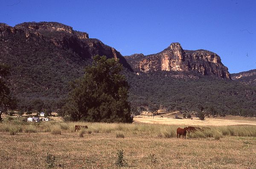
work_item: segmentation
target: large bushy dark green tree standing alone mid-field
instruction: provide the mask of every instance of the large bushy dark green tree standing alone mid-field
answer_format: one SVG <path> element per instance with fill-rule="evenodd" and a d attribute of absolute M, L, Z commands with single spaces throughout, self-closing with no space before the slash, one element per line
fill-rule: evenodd
<path fill-rule="evenodd" d="M 118 59 L 94 56 L 84 76 L 71 82 L 72 90 L 62 115 L 72 121 L 131 123 L 129 86 L 121 70 Z"/>

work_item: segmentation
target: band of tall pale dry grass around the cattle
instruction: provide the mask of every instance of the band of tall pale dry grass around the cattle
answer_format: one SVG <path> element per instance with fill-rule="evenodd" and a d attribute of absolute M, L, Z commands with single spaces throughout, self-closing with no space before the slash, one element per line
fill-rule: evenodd
<path fill-rule="evenodd" d="M 52 134 L 61 134 L 61 132 L 74 132 L 75 125 L 87 125 L 92 133 L 117 133 L 124 135 L 148 135 L 155 138 L 173 138 L 176 137 L 178 127 L 181 125 L 165 124 L 122 124 L 122 123 L 91 123 L 91 122 L 40 122 L 40 123 L 0 123 L 0 132 L 50 132 Z M 200 127 L 200 126 L 196 126 Z M 187 138 L 215 138 L 220 139 L 223 136 L 249 136 L 256 137 L 256 126 L 209 126 L 211 130 L 196 131 L 187 134 Z M 88 133 L 88 132 L 87 132 Z"/>

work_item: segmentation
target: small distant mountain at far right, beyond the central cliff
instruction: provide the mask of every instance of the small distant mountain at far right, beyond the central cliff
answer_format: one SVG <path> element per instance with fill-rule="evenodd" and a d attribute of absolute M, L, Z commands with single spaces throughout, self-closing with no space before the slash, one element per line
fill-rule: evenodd
<path fill-rule="evenodd" d="M 231 79 L 243 84 L 256 85 L 256 69 L 240 73 L 232 73 Z"/>

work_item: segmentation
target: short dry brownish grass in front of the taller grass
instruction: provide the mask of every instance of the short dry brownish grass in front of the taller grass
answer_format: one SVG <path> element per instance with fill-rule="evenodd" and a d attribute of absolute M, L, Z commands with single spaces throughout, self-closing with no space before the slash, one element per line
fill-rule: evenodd
<path fill-rule="evenodd" d="M 129 169 L 256 169 L 256 138 L 157 138 L 114 133 L 0 132 L 1 169 L 46 168 L 47 153 L 54 168 L 117 169 L 117 150 L 123 150 Z"/>

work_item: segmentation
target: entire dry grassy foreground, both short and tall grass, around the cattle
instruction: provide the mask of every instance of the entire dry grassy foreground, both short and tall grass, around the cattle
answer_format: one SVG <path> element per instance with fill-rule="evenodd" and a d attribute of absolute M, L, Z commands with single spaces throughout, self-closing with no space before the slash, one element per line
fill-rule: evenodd
<path fill-rule="evenodd" d="M 74 125 L 89 129 L 74 132 Z M 103 123 L 2 123 L 0 168 L 119 168 L 117 150 L 126 166 L 140 169 L 256 169 L 256 127 L 211 127 L 175 138 L 177 125 Z"/>

